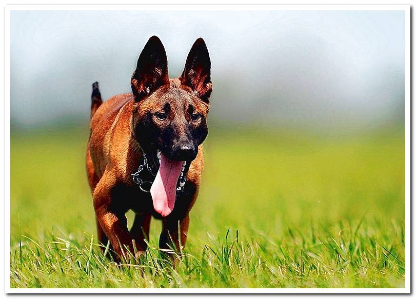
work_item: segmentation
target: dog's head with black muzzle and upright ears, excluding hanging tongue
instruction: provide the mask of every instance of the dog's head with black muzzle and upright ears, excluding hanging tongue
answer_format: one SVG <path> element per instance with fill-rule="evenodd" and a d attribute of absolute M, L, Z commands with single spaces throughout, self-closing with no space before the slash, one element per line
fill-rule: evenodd
<path fill-rule="evenodd" d="M 166 164 L 166 169 L 183 176 L 208 134 L 212 83 L 211 61 L 204 40 L 196 39 L 182 75 L 169 79 L 165 48 L 158 37 L 150 37 L 138 57 L 131 89 L 135 101 L 133 137 L 152 166 L 161 166 L 158 175 L 163 175 L 161 170 Z M 169 177 L 176 175 L 173 172 L 169 170 Z"/>

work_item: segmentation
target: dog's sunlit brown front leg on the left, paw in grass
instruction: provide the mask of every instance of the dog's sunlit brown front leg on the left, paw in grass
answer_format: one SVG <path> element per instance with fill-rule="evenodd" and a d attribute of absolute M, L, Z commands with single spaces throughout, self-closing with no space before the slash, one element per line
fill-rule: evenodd
<path fill-rule="evenodd" d="M 104 180 L 103 180 L 104 179 Z M 133 253 L 133 243 L 131 235 L 127 229 L 127 218 L 122 211 L 114 209 L 111 189 L 114 184 L 103 175 L 100 182 L 94 190 L 94 210 L 97 222 L 104 230 L 110 240 L 117 260 L 125 260 L 128 258 L 127 249 Z"/>

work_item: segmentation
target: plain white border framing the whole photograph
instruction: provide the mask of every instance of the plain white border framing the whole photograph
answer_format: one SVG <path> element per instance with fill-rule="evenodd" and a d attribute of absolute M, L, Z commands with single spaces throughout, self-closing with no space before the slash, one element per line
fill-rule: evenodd
<path fill-rule="evenodd" d="M 405 12 L 405 288 L 10 288 L 10 12 L 17 10 L 400 10 Z M 5 7 L 5 278 L 6 293 L 410 293 L 410 5 L 9 5 Z"/>

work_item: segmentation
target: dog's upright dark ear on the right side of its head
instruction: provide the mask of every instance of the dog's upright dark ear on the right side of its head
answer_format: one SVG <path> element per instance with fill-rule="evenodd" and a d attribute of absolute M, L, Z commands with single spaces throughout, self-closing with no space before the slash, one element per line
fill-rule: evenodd
<path fill-rule="evenodd" d="M 192 88 L 198 97 L 209 103 L 208 99 L 212 91 L 211 60 L 204 39 L 201 37 L 196 39 L 189 51 L 180 80 L 181 84 Z"/>

